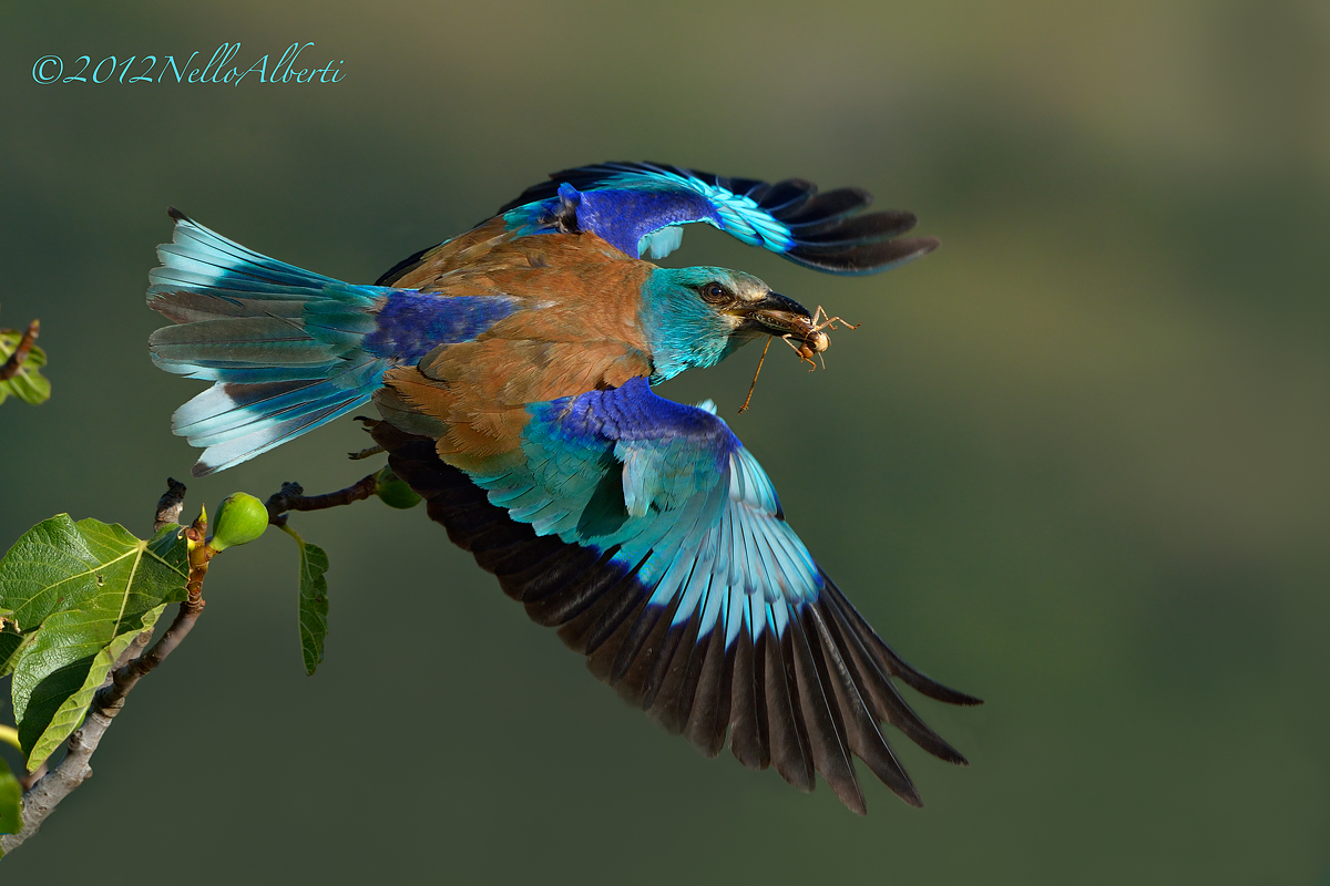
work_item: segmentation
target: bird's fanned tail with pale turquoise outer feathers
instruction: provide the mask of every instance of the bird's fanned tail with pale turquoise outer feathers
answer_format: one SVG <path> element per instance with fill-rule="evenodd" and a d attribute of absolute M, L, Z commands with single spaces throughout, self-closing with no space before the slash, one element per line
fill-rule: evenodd
<path fill-rule="evenodd" d="M 215 384 L 172 417 L 205 449 L 194 476 L 223 470 L 366 402 L 394 360 L 362 340 L 390 290 L 302 271 L 182 213 L 157 248 L 148 304 L 178 325 L 149 339 L 168 372 Z"/>

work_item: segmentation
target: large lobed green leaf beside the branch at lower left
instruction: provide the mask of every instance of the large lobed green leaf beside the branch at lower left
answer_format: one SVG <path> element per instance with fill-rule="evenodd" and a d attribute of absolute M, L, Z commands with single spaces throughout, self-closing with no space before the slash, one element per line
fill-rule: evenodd
<path fill-rule="evenodd" d="M 13 610 L 24 634 L 13 709 L 29 769 L 78 727 L 134 636 L 185 599 L 188 546 L 178 530 L 168 526 L 145 542 L 118 525 L 60 514 L 0 561 L 0 606 Z"/>

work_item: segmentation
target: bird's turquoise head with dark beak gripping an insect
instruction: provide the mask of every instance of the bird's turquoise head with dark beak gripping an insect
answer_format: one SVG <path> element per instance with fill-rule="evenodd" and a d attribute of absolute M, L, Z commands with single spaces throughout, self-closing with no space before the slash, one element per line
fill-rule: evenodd
<path fill-rule="evenodd" d="M 793 333 L 813 351 L 826 349 L 826 333 L 813 328 L 802 304 L 728 268 L 656 268 L 638 316 L 652 348 L 652 381 L 713 367 L 762 333 Z"/>

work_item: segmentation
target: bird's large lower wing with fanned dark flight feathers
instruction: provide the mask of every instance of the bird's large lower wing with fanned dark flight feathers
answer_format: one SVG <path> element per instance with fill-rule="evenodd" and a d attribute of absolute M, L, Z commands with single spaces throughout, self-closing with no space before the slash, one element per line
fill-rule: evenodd
<path fill-rule="evenodd" d="M 559 627 L 597 677 L 706 756 L 729 733 L 741 762 L 775 765 L 797 788 L 811 790 L 821 772 L 861 814 L 853 756 L 920 804 L 882 723 L 964 762 L 892 679 L 952 704 L 979 700 L 882 642 L 724 421 L 641 377 L 528 414 L 520 449 L 466 473 L 439 460 L 434 440 L 388 422 L 375 438 L 452 541 L 532 619 Z"/>

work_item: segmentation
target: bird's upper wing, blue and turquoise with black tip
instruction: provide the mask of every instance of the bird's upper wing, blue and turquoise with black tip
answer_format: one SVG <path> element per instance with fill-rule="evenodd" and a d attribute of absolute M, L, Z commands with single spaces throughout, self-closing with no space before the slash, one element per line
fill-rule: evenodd
<path fill-rule="evenodd" d="M 681 224 L 705 222 L 749 246 L 831 274 L 875 274 L 938 247 L 931 236 L 900 238 L 911 213 L 863 213 L 872 195 L 858 187 L 819 193 L 790 178 L 770 185 L 666 163 L 600 163 L 565 169 L 499 211 L 531 232 L 595 231 L 632 256 L 664 258 Z"/>

